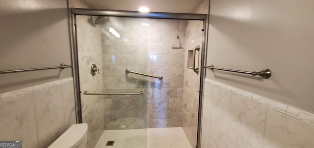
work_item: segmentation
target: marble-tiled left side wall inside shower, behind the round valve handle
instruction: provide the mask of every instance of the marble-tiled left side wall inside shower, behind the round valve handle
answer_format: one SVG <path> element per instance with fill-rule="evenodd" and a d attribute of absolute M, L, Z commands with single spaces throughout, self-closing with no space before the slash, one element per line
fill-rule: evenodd
<path fill-rule="evenodd" d="M 93 63 L 102 70 L 101 26 L 95 25 L 97 17 L 78 16 L 78 70 L 80 91 L 102 92 L 103 73 L 91 75 Z M 87 148 L 94 148 L 105 128 L 105 103 L 102 95 L 81 93 L 82 122 L 88 124 Z"/>

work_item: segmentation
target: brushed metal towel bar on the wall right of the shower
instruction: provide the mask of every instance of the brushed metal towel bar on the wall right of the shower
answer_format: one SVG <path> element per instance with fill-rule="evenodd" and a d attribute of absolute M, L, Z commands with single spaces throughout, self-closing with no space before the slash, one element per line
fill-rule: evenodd
<path fill-rule="evenodd" d="M 271 71 L 269 69 L 263 69 L 262 71 L 260 72 L 250 72 L 250 71 L 241 71 L 241 70 L 233 70 L 233 69 L 225 69 L 225 68 L 217 68 L 217 67 L 214 67 L 214 65 L 210 65 L 210 66 L 205 66 L 205 68 L 209 68 L 211 70 L 223 70 L 223 71 L 229 71 L 229 72 L 236 72 L 236 73 L 243 73 L 243 74 L 249 74 L 249 75 L 252 75 L 252 76 L 261 76 L 262 78 L 264 79 L 268 79 L 270 78 L 271 76 Z"/>

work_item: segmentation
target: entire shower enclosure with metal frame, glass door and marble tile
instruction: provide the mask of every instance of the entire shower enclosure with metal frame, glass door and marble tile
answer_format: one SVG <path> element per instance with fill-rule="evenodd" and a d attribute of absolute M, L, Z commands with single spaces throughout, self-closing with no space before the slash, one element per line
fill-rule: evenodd
<path fill-rule="evenodd" d="M 78 114 L 79 122 L 89 127 L 87 148 L 194 148 L 200 138 L 203 81 L 203 68 L 196 73 L 195 66 L 204 66 L 207 16 L 91 9 L 72 13 Z M 194 50 L 197 45 L 202 50 Z M 194 70 L 188 68 L 190 61 Z"/>

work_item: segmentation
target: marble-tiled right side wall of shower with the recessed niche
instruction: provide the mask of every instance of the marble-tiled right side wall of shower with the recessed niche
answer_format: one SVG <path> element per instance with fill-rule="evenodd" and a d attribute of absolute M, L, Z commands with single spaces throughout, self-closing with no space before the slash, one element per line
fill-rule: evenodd
<path fill-rule="evenodd" d="M 194 13 L 207 14 L 209 10 L 209 0 L 205 0 Z M 200 74 L 196 74 L 192 69 L 187 68 L 187 52 L 197 45 L 202 45 L 203 21 L 188 21 L 186 26 L 186 42 L 184 56 L 184 88 L 183 88 L 183 129 L 194 148 L 196 146 L 197 123 L 198 123 L 198 103 Z M 201 52 L 200 52 L 201 55 Z M 199 58 L 199 66 L 200 66 Z"/>

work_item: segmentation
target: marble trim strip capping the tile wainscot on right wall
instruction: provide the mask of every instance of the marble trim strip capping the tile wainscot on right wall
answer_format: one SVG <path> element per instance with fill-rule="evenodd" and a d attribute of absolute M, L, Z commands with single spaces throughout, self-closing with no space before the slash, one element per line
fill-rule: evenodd
<path fill-rule="evenodd" d="M 240 97 L 243 97 L 245 99 L 248 99 L 252 102 L 258 103 L 262 106 L 266 106 L 267 108 L 273 109 L 275 111 L 278 111 L 280 113 L 284 113 L 285 115 L 288 115 L 290 117 L 293 117 L 297 120 L 299 120 L 300 122 L 309 124 L 314 126 L 314 114 L 292 107 L 292 106 L 288 106 L 276 101 L 273 101 L 271 99 L 262 97 L 260 95 L 257 94 L 253 94 L 229 85 L 225 85 L 213 80 L 210 80 L 208 78 L 205 78 L 205 83 L 209 84 L 209 85 L 213 85 L 216 86 L 218 88 L 224 89 L 229 91 L 229 89 L 231 90 L 230 92 L 232 92 L 235 95 L 238 95 Z"/>

